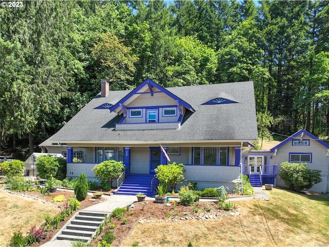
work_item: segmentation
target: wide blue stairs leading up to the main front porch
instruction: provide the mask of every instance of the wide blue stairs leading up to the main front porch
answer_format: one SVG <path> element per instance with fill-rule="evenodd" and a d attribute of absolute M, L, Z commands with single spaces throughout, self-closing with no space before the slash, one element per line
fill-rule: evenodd
<path fill-rule="evenodd" d="M 155 195 L 151 188 L 153 178 L 154 174 L 130 174 L 120 188 L 113 193 L 116 195 L 130 196 L 135 196 L 137 193 L 144 193 L 148 197 L 152 197 Z"/>

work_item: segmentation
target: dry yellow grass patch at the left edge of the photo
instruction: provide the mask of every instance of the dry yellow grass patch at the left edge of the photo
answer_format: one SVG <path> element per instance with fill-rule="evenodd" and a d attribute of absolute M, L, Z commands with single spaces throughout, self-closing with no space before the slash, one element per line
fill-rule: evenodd
<path fill-rule="evenodd" d="M 45 216 L 57 215 L 61 209 L 31 198 L 10 195 L 0 189 L 0 246 L 5 246 L 14 231 L 29 232 L 34 224 L 39 227 Z"/>

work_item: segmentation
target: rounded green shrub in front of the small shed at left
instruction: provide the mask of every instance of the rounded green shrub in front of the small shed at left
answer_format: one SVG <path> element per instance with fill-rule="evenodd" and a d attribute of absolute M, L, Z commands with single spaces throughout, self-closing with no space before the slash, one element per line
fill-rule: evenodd
<path fill-rule="evenodd" d="M 51 155 L 41 155 L 36 159 L 36 169 L 43 179 L 49 177 L 56 178 L 60 164 L 56 157 Z"/>

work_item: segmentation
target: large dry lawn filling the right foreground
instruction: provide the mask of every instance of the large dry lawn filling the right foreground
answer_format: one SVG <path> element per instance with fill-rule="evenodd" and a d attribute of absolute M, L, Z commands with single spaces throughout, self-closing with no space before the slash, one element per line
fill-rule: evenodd
<path fill-rule="evenodd" d="M 329 196 L 275 188 L 240 216 L 135 224 L 121 246 L 328 246 Z"/>

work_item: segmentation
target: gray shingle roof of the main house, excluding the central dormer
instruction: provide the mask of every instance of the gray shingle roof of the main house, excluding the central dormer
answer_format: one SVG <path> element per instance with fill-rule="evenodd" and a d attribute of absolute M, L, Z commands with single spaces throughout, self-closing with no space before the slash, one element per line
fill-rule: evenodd
<path fill-rule="evenodd" d="M 233 82 L 210 85 L 168 87 L 168 91 L 188 102 L 195 112 L 187 111 L 180 129 L 116 131 L 121 116 L 109 110 L 94 109 L 103 103 L 115 104 L 131 91 L 110 91 L 97 95 L 56 134 L 40 146 L 51 143 L 177 143 L 202 141 L 252 141 L 258 137 L 253 83 Z M 202 105 L 225 98 L 238 103 Z M 92 145 L 91 145 L 92 146 Z"/>

